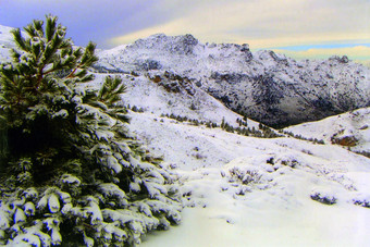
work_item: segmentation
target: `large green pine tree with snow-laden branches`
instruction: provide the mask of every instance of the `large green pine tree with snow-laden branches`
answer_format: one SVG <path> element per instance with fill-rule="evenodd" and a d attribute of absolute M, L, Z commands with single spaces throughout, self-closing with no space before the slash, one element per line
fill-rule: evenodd
<path fill-rule="evenodd" d="M 128 135 L 122 79 L 86 85 L 95 45 L 74 48 L 51 15 L 24 30 L 0 65 L 0 244 L 135 245 L 177 223 L 171 175 Z"/>

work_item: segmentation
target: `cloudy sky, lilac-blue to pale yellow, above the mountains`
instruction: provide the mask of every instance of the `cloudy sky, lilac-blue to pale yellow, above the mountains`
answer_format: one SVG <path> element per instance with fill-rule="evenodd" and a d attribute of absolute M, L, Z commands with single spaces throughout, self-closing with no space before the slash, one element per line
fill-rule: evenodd
<path fill-rule="evenodd" d="M 0 0 L 0 25 L 23 27 L 47 13 L 81 46 L 193 34 L 296 58 L 370 60 L 369 0 Z"/>

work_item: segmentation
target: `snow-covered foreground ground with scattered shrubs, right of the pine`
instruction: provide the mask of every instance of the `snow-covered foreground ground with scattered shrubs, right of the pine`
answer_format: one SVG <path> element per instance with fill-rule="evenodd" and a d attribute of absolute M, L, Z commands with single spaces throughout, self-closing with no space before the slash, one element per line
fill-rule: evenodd
<path fill-rule="evenodd" d="M 368 158 L 338 146 L 244 137 L 151 113 L 132 113 L 131 128 L 163 156 L 188 195 L 182 224 L 149 234 L 141 246 L 370 244 L 370 209 L 354 205 L 370 202 Z"/>

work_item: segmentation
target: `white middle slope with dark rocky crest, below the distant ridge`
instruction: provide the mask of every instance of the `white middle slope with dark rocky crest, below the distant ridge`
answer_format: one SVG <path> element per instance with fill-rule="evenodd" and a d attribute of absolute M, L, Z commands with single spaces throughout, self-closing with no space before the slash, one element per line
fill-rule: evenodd
<path fill-rule="evenodd" d="M 112 74 L 114 75 L 114 74 Z M 95 84 L 101 84 L 107 74 L 96 74 Z M 182 78 L 172 77 L 161 73 L 140 76 L 122 75 L 127 86 L 127 91 L 122 96 L 125 104 L 136 107 L 145 112 L 151 112 L 157 118 L 160 115 L 175 115 L 221 124 L 224 119 L 231 125 L 237 126 L 236 120 L 243 119 L 231 111 L 219 100 L 214 99 L 202 89 L 188 84 L 184 85 Z M 153 78 L 161 78 L 156 83 Z M 248 120 L 248 126 L 258 128 L 259 123 Z"/>

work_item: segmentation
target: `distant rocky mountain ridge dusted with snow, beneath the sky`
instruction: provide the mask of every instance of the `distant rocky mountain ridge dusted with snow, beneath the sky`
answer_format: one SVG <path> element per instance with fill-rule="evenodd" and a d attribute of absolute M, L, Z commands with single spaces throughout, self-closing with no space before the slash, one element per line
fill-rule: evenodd
<path fill-rule="evenodd" d="M 295 61 L 248 45 L 200 44 L 192 35 L 153 35 L 99 53 L 100 71 L 172 71 L 226 107 L 286 126 L 370 106 L 370 69 L 347 57 Z"/>

